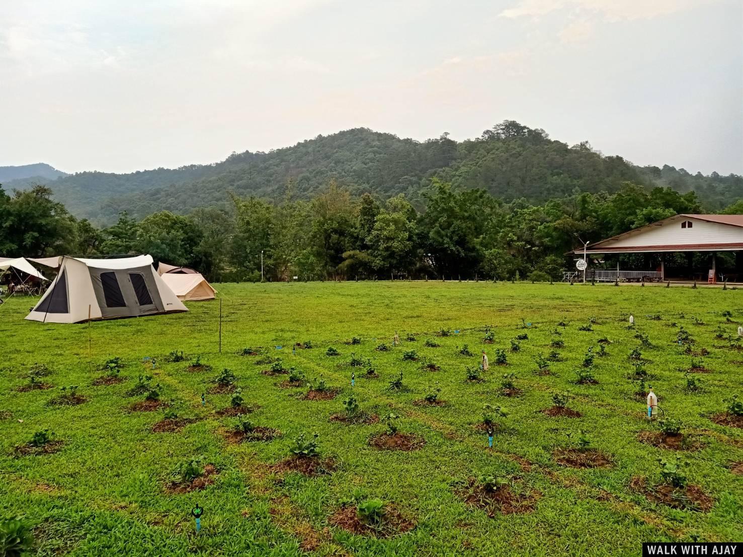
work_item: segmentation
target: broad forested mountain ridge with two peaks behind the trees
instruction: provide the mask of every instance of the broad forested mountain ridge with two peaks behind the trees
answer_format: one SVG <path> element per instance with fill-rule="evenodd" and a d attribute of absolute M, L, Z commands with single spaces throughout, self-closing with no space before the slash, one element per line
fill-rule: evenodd
<path fill-rule="evenodd" d="M 80 172 L 36 180 L 77 216 L 109 224 L 120 211 L 135 218 L 166 209 L 187 213 L 199 206 L 229 206 L 230 192 L 279 199 L 288 188 L 296 198 L 317 195 L 331 179 L 353 195 L 379 198 L 406 194 L 416 209 L 421 192 L 438 177 L 456 189 L 486 189 L 509 202 L 542 203 L 575 192 L 617 192 L 623 183 L 692 189 L 704 209 L 716 211 L 743 197 L 743 177 L 691 175 L 672 166 L 633 166 L 603 156 L 587 143 L 568 146 L 545 131 L 507 120 L 475 140 L 455 142 L 442 134 L 418 142 L 355 128 L 317 136 L 270 152 L 233 153 L 221 163 L 155 169 L 131 174 Z M 31 180 L 4 183 L 25 189 Z"/>

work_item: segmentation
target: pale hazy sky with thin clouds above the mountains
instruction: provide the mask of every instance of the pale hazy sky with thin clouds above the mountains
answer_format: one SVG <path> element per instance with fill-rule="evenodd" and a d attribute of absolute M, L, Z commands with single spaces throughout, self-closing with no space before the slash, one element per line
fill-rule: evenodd
<path fill-rule="evenodd" d="M 0 166 L 129 172 L 513 119 L 743 173 L 741 0 L 5 0 L 0 23 Z"/>

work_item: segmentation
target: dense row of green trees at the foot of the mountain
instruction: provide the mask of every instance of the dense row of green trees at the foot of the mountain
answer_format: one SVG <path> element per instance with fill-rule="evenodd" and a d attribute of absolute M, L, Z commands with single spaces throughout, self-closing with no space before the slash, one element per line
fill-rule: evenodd
<path fill-rule="evenodd" d="M 132 218 L 110 227 L 75 218 L 36 185 L 0 188 L 0 255 L 128 255 L 194 267 L 212 281 L 548 278 L 572 268 L 579 237 L 598 241 L 678 213 L 702 212 L 694 191 L 625 182 L 617 192 L 576 192 L 544 203 L 505 202 L 485 189 L 433 177 L 423 209 L 405 194 L 353 195 L 330 180 L 297 195 L 288 180 L 278 200 L 230 195 L 226 207 Z M 743 200 L 725 212 L 743 212 Z M 632 258 L 623 255 L 623 258 Z M 671 255 L 669 255 L 671 257 Z M 629 261 L 628 261 L 629 262 Z"/>

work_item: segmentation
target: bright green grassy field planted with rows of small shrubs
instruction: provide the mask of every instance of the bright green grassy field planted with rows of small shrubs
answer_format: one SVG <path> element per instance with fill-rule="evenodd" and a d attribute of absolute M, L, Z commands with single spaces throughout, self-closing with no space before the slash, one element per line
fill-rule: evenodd
<path fill-rule="evenodd" d="M 217 287 L 221 354 L 218 302 L 89 328 L 24 321 L 30 299 L 0 306 L 0 516 L 22 515 L 40 555 L 594 556 L 638 555 L 642 541 L 743 540 L 743 431 L 724 414 L 724 400 L 743 394 L 743 351 L 716 338 L 718 327 L 737 335 L 740 290 L 432 281 Z M 492 344 L 484 343 L 486 326 Z M 442 329 L 450 336 L 439 336 Z M 693 344 L 678 344 L 682 329 Z M 395 330 L 401 345 L 392 348 Z M 512 351 L 519 335 L 528 339 Z M 354 336 L 359 345 L 344 343 Z M 600 339 L 610 342 L 606 355 L 585 367 Z M 313 348 L 292 353 L 293 343 L 306 341 Z M 376 349 L 383 343 L 389 351 Z M 465 344 L 473 356 L 459 354 Z M 246 347 L 262 350 L 239 355 Z M 340 355 L 326 356 L 329 347 Z M 635 348 L 663 417 L 681 423 L 678 450 L 652 445 L 661 440 L 659 422 L 644 417 L 639 384 L 628 379 Z M 467 380 L 483 349 L 490 370 L 484 381 Z M 496 365 L 496 349 L 507 365 Z M 167 362 L 172 351 L 186 360 Z M 409 351 L 418 361 L 403 359 L 414 357 Z M 539 374 L 539 356 L 552 351 L 561 361 L 541 362 L 550 373 Z M 363 365 L 351 367 L 352 354 Z M 122 381 L 94 385 L 114 356 Z M 187 371 L 196 356 L 211 370 Z M 282 388 L 287 374 L 262 374 L 270 363 L 256 365 L 267 356 L 307 382 Z M 363 377 L 366 359 L 379 377 Z M 49 371 L 36 382 L 51 388 L 25 391 L 34 364 Z M 687 388 L 692 366 L 701 391 Z M 232 394 L 209 394 L 224 368 L 235 374 L 254 425 L 280 431 L 273 440 L 236 442 L 238 419 L 218 415 Z M 579 370 L 597 383 L 577 384 Z M 403 388 L 390 388 L 400 372 Z M 140 374 L 159 383 L 160 403 L 182 429 L 152 431 L 163 408 L 131 410 L 145 400 L 128 396 Z M 505 396 L 504 374 L 515 376 L 516 396 Z M 337 396 L 304 400 L 321 378 Z M 50 404 L 71 385 L 85 402 Z M 446 403 L 421 403 L 435 388 Z M 565 393 L 581 417 L 542 412 Z M 331 420 L 351 395 L 372 416 L 366 421 L 380 420 Z M 487 404 L 507 414 L 496 416 L 493 449 L 481 426 Z M 370 445 L 385 440 L 379 435 L 391 413 L 417 450 Z M 44 429 L 53 432 L 50 443 L 26 445 Z M 305 466 L 317 473 L 293 471 L 296 437 L 314 433 L 319 457 L 296 460 L 317 464 Z M 666 446 L 680 438 L 665 437 Z M 661 477 L 658 458 L 677 455 L 690 487 L 658 488 L 671 477 Z M 201 459 L 195 472 L 207 475 L 189 483 L 182 464 L 193 458 Z M 496 486 L 486 489 L 483 476 Z M 373 516 L 357 518 L 357 504 L 377 498 L 386 515 L 369 527 Z M 196 505 L 204 508 L 198 535 Z"/>

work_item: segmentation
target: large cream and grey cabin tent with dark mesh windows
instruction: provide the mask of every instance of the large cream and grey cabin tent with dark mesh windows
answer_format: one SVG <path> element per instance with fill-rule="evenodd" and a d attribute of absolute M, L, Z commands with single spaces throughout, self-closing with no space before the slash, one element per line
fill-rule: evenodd
<path fill-rule="evenodd" d="M 163 282 L 152 256 L 59 258 L 59 273 L 26 316 L 32 321 L 80 323 L 188 311 Z"/>

